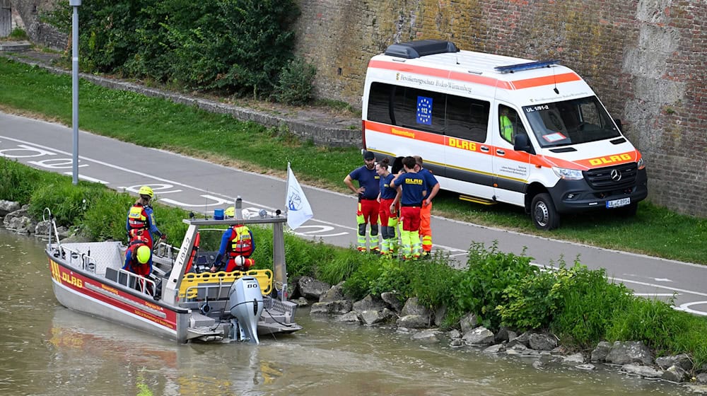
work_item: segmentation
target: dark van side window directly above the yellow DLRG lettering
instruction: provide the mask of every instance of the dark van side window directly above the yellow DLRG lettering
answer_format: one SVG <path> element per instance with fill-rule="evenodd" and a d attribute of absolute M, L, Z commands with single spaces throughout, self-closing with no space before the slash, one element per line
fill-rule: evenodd
<path fill-rule="evenodd" d="M 491 104 L 484 100 L 447 95 L 445 134 L 471 141 L 486 141 Z"/>

